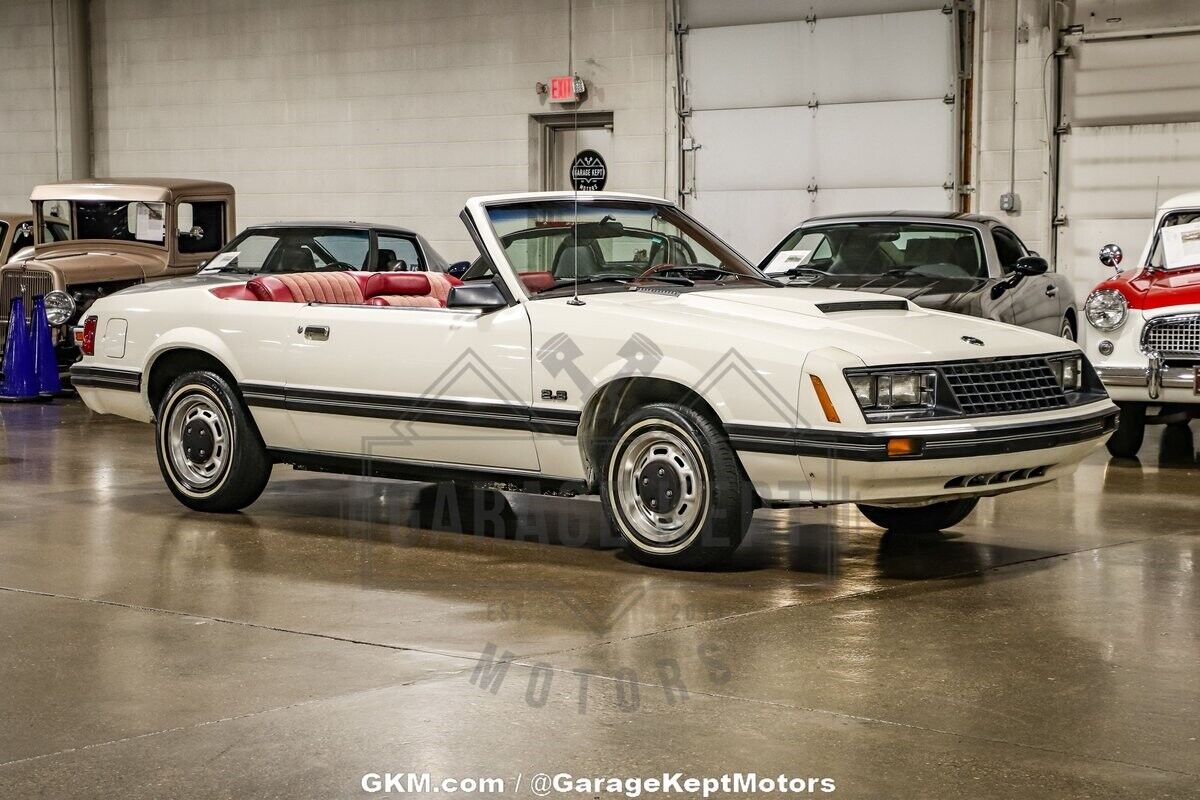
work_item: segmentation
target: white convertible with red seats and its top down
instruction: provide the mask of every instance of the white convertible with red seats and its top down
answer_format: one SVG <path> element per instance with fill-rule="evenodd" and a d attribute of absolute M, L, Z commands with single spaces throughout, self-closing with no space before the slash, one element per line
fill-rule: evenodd
<path fill-rule="evenodd" d="M 470 200 L 462 279 L 217 267 L 97 301 L 72 369 L 157 426 L 167 486 L 276 463 L 599 493 L 642 561 L 727 558 L 756 506 L 937 530 L 1072 473 L 1116 408 L 1079 348 L 898 297 L 781 288 L 666 200 Z"/>

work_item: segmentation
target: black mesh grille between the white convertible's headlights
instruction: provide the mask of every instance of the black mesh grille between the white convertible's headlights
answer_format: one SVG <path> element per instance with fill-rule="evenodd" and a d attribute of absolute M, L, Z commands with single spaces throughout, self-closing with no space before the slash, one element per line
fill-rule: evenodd
<path fill-rule="evenodd" d="M 947 363 L 942 375 L 964 414 L 1009 414 L 1067 405 L 1045 357 Z"/>

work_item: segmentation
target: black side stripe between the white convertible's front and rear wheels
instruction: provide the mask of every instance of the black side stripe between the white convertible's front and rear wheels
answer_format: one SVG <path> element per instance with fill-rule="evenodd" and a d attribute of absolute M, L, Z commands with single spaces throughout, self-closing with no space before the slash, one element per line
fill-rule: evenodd
<path fill-rule="evenodd" d="M 259 408 L 361 416 L 377 420 L 466 425 L 505 431 L 533 431 L 574 437 L 580 413 L 542 409 L 517 403 L 475 403 L 436 397 L 392 397 L 314 389 L 284 389 L 265 384 L 241 384 L 246 403 Z"/>

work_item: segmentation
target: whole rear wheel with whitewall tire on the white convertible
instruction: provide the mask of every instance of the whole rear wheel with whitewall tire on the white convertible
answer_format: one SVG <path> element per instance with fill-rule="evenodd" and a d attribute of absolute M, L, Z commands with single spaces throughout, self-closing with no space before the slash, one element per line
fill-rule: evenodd
<path fill-rule="evenodd" d="M 167 488 L 196 511 L 240 511 L 271 476 L 258 428 L 215 372 L 188 372 L 170 384 L 158 404 L 155 451 Z"/>

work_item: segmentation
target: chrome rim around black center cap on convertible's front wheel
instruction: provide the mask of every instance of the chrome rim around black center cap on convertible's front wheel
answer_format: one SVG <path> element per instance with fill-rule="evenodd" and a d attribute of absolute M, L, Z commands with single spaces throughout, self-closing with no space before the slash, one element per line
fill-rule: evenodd
<path fill-rule="evenodd" d="M 676 504 L 653 509 L 640 493 L 647 468 L 667 470 L 678 486 Z M 665 476 L 666 477 L 666 476 Z M 708 519 L 708 467 L 690 433 L 665 420 L 626 431 L 608 464 L 608 501 L 625 534 L 647 553 L 677 553 L 695 541 Z"/>

